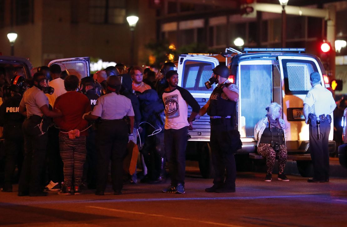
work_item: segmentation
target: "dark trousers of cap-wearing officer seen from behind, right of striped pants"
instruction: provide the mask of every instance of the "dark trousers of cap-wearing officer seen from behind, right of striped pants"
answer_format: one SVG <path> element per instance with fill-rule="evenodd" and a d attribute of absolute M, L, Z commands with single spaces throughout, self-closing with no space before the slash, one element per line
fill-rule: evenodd
<path fill-rule="evenodd" d="M 113 190 L 123 187 L 123 161 L 127 155 L 128 125 L 124 120 L 102 120 L 96 132 L 97 191 L 105 191 L 111 159 Z"/>

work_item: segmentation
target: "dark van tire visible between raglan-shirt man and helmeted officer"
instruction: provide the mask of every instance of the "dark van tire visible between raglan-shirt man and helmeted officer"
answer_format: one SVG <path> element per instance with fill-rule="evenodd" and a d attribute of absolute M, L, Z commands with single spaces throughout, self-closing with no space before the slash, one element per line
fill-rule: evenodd
<path fill-rule="evenodd" d="M 199 155 L 199 169 L 203 178 L 213 178 L 214 169 L 212 166 L 210 143 L 203 143 Z"/>

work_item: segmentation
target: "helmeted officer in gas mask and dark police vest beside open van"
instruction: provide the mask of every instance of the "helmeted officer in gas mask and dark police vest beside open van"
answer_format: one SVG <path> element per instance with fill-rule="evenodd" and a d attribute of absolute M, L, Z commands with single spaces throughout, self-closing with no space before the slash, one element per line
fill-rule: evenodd
<path fill-rule="evenodd" d="M 209 101 L 201 108 L 199 115 L 206 112 L 211 120 L 211 158 L 215 171 L 213 186 L 206 192 L 235 192 L 236 164 L 234 153 L 241 148 L 240 133 L 235 128 L 235 109 L 238 88 L 228 82 L 229 68 L 218 65 L 213 69 L 209 85 L 218 86 L 212 91 Z M 208 87 L 206 85 L 206 87 Z M 211 86 L 209 86 L 211 87 Z M 224 178 L 225 170 L 227 172 Z"/>

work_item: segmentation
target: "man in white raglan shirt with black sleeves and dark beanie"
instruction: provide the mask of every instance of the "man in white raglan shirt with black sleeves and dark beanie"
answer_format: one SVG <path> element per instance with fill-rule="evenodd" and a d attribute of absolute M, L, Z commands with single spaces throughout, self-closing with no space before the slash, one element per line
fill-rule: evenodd
<path fill-rule="evenodd" d="M 183 194 L 184 176 L 186 170 L 186 147 L 188 129 L 193 130 L 193 120 L 200 110 L 200 106 L 191 93 L 178 84 L 178 73 L 170 70 L 165 75 L 169 87 L 164 90 L 162 99 L 165 105 L 165 153 L 169 166 L 171 185 L 165 188 L 165 193 Z M 188 118 L 188 105 L 192 107 Z"/>

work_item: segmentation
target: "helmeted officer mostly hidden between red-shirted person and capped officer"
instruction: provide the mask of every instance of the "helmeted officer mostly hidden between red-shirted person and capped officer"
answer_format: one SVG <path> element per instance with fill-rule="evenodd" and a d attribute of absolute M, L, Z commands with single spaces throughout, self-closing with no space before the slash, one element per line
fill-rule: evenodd
<path fill-rule="evenodd" d="M 96 92 L 96 82 L 93 77 L 84 77 L 81 79 L 79 86 L 81 91 L 90 101 L 92 110 L 96 105 L 99 95 Z M 87 156 L 83 166 L 82 186 L 88 189 L 96 188 L 96 144 L 95 144 L 96 130 L 95 127 L 88 128 L 88 135 L 86 137 Z"/>

